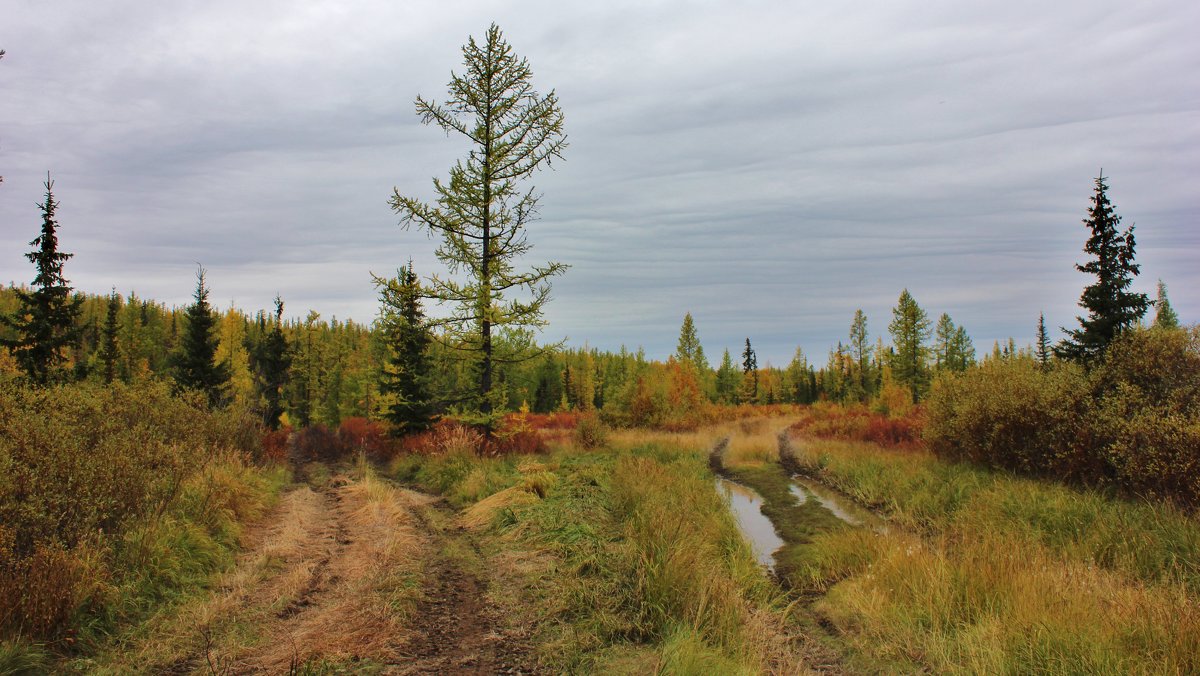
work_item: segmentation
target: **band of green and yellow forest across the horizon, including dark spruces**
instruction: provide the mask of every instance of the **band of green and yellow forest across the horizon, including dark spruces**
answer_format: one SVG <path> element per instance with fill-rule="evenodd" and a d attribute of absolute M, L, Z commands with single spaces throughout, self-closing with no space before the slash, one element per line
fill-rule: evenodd
<path fill-rule="evenodd" d="M 422 303 L 431 294 L 412 263 L 394 279 L 376 277 L 380 310 L 370 325 L 326 321 L 316 312 L 289 319 L 278 298 L 270 313 L 214 309 L 203 268 L 193 303 L 184 309 L 132 292 L 78 294 L 64 274 L 71 255 L 58 249 L 53 187 L 47 179 L 41 231 L 26 253 L 35 268 L 32 285 L 0 289 L 0 345 L 6 348 L 0 372 L 22 373 L 36 384 L 170 379 L 180 389 L 203 391 L 214 407 L 236 403 L 257 411 L 270 427 L 332 426 L 362 417 L 389 420 L 397 433 L 407 433 L 440 415 L 478 415 L 478 337 L 426 315 Z M 946 313 L 931 322 L 907 289 L 892 311 L 888 343 L 882 336 L 872 340 L 868 317 L 858 310 L 846 341 L 829 351 L 823 365 L 800 348 L 787 365 L 760 365 L 746 337 L 740 359 L 725 349 L 714 367 L 690 313 L 665 363 L 640 348 L 539 348 L 522 327 L 497 324 L 490 337 L 492 411 L 605 411 L 631 421 L 695 415 L 710 403 L 827 400 L 886 411 L 923 400 L 940 376 L 977 361 L 1032 359 L 1043 370 L 1057 361 L 1087 366 L 1150 306 L 1157 307 L 1156 325 L 1178 327 L 1165 285 L 1159 282 L 1154 301 L 1128 291 L 1138 274 L 1133 231 L 1117 231 L 1120 217 L 1105 190 L 1103 178 L 1097 179 L 1085 220 L 1092 232 L 1085 251 L 1094 259 L 1079 269 L 1097 276 L 1080 300 L 1087 316 L 1058 345 L 1050 345 L 1040 316 L 1036 345 L 1019 349 L 1009 339 L 977 355 L 962 327 Z M 494 359 L 497 354 L 527 357 Z"/>

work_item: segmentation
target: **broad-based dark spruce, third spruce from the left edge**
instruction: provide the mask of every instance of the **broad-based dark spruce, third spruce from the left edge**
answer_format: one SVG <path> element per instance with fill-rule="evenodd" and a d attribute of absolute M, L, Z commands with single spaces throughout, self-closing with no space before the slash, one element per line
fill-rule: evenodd
<path fill-rule="evenodd" d="M 200 391 L 208 399 L 209 406 L 220 406 L 226 400 L 229 365 L 216 361 L 217 316 L 209 305 L 204 268 L 196 271 L 193 299 L 184 313 L 184 333 L 172 359 L 172 372 L 180 389 Z"/>

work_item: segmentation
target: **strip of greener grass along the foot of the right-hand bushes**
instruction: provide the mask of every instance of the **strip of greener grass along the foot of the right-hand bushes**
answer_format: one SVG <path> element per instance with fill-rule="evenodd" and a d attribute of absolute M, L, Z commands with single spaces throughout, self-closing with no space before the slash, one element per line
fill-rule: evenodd
<path fill-rule="evenodd" d="M 1200 593 L 1200 525 L 1168 503 L 1115 499 L 924 451 L 821 441 L 797 445 L 812 474 L 908 528 L 1006 533 L 1066 562 Z"/>

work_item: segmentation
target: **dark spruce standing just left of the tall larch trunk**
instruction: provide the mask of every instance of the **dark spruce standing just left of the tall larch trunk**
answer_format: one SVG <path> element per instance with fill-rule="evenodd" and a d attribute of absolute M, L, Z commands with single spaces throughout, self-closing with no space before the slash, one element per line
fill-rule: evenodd
<path fill-rule="evenodd" d="M 421 285 L 409 262 L 392 280 L 376 277 L 376 286 L 388 343 L 379 390 L 392 399 L 384 418 L 397 436 L 421 432 L 433 424 L 436 411 L 430 382 L 432 337 L 421 309 Z"/>

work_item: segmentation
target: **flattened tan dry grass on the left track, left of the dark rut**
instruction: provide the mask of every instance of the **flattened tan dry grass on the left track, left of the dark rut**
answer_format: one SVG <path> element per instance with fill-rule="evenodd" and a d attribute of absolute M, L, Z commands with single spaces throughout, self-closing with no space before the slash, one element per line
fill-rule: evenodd
<path fill-rule="evenodd" d="M 324 492 L 298 487 L 212 594 L 150 622 L 101 671 L 168 666 L 287 672 L 317 662 L 395 659 L 415 604 L 428 499 L 370 473 Z"/>

